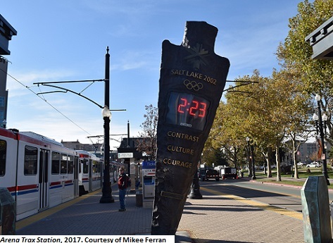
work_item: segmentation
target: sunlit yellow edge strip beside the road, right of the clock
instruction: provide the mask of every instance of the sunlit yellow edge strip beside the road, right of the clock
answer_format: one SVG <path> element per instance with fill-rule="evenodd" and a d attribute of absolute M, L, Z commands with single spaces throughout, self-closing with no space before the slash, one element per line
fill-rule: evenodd
<path fill-rule="evenodd" d="M 251 205 L 251 206 L 256 206 L 256 207 L 262 208 L 264 210 L 273 211 L 275 213 L 279 213 L 279 214 L 282 214 L 282 215 L 285 215 L 285 216 L 289 216 L 291 218 L 296 218 L 296 219 L 299 219 L 299 220 L 303 220 L 303 214 L 299 213 L 299 212 L 296 212 L 296 211 L 289 211 L 289 210 L 284 209 L 284 208 L 278 208 L 278 207 L 272 206 L 270 204 L 263 204 L 263 203 L 260 203 L 259 201 L 246 199 L 244 197 L 237 197 L 235 195 L 225 194 L 225 193 L 222 193 L 222 192 L 215 191 L 213 189 L 208 189 L 206 187 L 200 187 L 200 189 L 202 189 L 203 191 L 209 192 L 211 194 L 221 195 L 221 196 L 226 197 L 228 199 L 241 201 L 244 204 L 248 204 L 248 205 Z"/>

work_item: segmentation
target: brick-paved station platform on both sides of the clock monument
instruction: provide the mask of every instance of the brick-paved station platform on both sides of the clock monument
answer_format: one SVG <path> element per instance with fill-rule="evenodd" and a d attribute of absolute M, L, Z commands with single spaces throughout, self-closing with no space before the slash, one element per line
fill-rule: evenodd
<path fill-rule="evenodd" d="M 126 197 L 127 210 L 100 204 L 101 190 L 16 223 L 16 235 L 150 235 L 151 208 L 137 206 L 136 194 Z M 222 194 L 201 185 L 203 199 L 187 199 L 175 242 L 240 243 L 303 242 L 303 217 L 249 199 Z"/>

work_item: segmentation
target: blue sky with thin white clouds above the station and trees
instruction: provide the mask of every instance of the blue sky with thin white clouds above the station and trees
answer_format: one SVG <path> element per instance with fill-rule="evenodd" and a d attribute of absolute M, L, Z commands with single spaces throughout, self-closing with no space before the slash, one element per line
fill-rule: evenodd
<path fill-rule="evenodd" d="M 161 46 L 182 44 L 187 21 L 218 28 L 215 54 L 230 60 L 227 80 L 270 76 L 301 0 L 11 0 L 0 14 L 18 32 L 9 42 L 7 128 L 58 142 L 101 143 L 101 108 L 37 82 L 100 80 L 110 59 L 111 149 L 139 137 L 145 106 L 158 106 Z M 232 82 L 227 83 L 227 87 Z M 104 104 L 104 82 L 59 85 Z M 39 94 L 42 92 L 53 92 Z M 125 109 L 126 111 L 112 111 Z"/>

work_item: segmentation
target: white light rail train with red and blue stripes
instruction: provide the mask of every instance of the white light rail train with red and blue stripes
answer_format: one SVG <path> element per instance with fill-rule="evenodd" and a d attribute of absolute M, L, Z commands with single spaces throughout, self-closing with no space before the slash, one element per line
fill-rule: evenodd
<path fill-rule="evenodd" d="M 111 162 L 111 180 L 121 165 Z M 0 127 L 0 187 L 15 199 L 16 220 L 101 188 L 102 172 L 103 159 L 94 154 L 34 132 Z"/>

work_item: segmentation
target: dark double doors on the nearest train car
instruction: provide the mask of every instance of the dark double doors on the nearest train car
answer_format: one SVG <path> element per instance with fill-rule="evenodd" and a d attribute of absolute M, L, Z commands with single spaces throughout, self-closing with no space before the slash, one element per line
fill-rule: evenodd
<path fill-rule="evenodd" d="M 49 154 L 50 151 L 39 151 L 39 210 L 49 206 Z"/>

